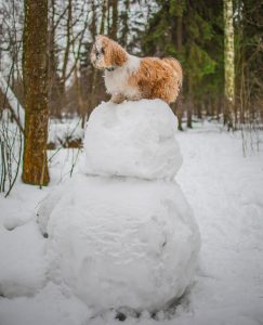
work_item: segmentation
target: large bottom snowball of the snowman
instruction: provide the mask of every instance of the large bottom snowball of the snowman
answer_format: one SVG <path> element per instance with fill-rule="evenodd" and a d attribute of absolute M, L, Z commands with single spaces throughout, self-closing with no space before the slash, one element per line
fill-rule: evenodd
<path fill-rule="evenodd" d="M 64 188 L 48 223 L 53 274 L 88 306 L 158 310 L 184 292 L 199 232 L 176 183 L 79 174 Z"/>

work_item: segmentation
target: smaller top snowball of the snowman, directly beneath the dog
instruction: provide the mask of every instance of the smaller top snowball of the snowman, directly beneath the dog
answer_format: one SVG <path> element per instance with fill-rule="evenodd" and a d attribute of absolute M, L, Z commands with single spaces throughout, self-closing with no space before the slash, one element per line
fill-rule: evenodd
<path fill-rule="evenodd" d="M 174 134 L 177 119 L 161 100 L 102 103 L 84 136 L 84 172 L 172 179 L 182 165 Z"/>

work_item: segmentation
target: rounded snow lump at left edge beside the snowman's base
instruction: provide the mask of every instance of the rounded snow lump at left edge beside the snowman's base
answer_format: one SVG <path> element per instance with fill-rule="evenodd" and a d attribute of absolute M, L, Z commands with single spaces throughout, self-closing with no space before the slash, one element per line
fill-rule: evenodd
<path fill-rule="evenodd" d="M 30 296 L 43 286 L 44 244 L 35 221 L 14 230 L 0 224 L 1 295 L 9 298 Z"/>

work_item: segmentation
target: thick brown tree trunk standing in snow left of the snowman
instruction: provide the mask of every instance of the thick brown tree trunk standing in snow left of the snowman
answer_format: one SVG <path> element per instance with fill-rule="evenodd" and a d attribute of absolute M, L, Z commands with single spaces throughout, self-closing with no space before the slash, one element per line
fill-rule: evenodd
<path fill-rule="evenodd" d="M 25 89 L 25 142 L 22 179 L 49 183 L 48 140 L 48 0 L 25 0 L 23 77 Z"/>

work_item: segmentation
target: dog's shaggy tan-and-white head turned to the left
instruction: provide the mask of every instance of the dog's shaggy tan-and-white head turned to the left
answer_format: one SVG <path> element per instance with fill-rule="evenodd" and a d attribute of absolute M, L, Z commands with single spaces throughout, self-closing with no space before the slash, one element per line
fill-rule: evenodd
<path fill-rule="evenodd" d="M 110 69 L 124 64 L 128 53 L 117 42 L 98 35 L 91 50 L 91 63 L 97 69 Z"/>

